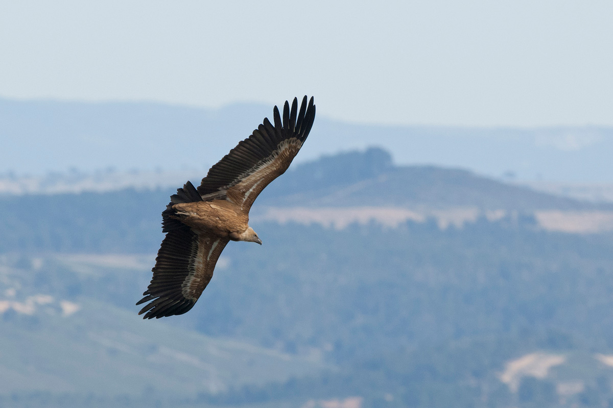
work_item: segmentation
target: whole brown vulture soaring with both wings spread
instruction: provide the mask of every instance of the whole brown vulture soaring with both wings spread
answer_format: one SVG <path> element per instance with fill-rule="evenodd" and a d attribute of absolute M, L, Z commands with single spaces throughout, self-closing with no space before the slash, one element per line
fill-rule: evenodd
<path fill-rule="evenodd" d="M 183 314 L 207 287 L 221 251 L 232 241 L 257 242 L 249 209 L 257 195 L 281 176 L 307 139 L 315 118 L 313 98 L 285 102 L 283 117 L 273 109 L 274 125 L 264 118 L 251 136 L 211 167 L 198 188 L 191 182 L 170 196 L 162 212 L 166 237 L 153 278 L 137 305 L 143 319 Z"/>

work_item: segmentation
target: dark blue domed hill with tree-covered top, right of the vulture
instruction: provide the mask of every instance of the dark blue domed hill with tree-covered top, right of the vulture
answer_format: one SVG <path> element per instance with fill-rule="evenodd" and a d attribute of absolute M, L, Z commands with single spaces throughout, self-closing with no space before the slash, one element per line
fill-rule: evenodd
<path fill-rule="evenodd" d="M 395 166 L 382 149 L 348 152 L 295 166 L 262 192 L 276 206 L 477 207 L 483 210 L 613 209 L 435 166 Z"/>

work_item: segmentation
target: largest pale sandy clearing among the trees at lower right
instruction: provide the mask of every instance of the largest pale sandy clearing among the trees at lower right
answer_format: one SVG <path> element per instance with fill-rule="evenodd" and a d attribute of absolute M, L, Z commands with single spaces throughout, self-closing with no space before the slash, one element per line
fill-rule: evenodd
<path fill-rule="evenodd" d="M 531 353 L 506 363 L 503 373 L 498 376 L 511 391 L 516 392 L 522 377 L 544 379 L 549 369 L 566 362 L 562 354 Z"/>

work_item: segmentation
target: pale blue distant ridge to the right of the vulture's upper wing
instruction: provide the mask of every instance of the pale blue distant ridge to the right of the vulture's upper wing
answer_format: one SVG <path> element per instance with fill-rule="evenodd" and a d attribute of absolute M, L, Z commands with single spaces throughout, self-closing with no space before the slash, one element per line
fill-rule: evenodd
<path fill-rule="evenodd" d="M 316 122 L 330 146 L 322 153 L 376 143 L 403 165 L 461 167 L 488 176 L 511 172 L 520 179 L 611 182 L 613 129 L 600 127 L 468 128 L 381 126 Z"/>

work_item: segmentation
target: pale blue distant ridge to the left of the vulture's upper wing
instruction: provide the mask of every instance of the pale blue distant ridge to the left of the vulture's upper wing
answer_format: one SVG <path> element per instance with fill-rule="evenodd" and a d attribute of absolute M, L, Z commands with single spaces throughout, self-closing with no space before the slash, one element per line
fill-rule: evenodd
<path fill-rule="evenodd" d="M 249 136 L 269 114 L 263 108 L 235 105 L 213 111 L 157 103 L 0 99 L 0 169 L 206 170 Z"/>

